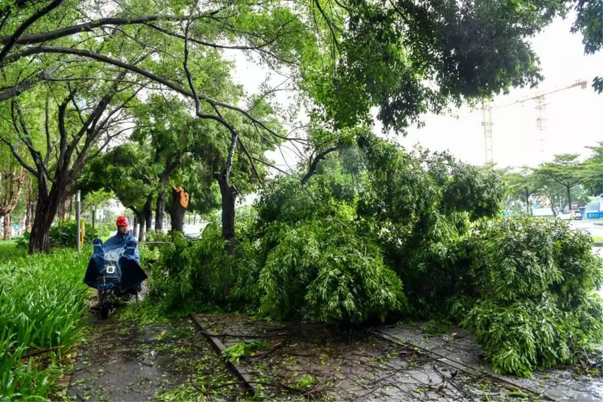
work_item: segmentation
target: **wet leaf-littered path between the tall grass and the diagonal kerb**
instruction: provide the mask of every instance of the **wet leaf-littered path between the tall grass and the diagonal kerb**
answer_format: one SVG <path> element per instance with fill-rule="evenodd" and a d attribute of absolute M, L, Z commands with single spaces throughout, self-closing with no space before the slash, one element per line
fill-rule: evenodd
<path fill-rule="evenodd" d="M 109 318 L 91 322 L 89 333 L 71 374 L 71 400 L 241 399 L 235 376 L 189 321 L 139 327 Z"/>

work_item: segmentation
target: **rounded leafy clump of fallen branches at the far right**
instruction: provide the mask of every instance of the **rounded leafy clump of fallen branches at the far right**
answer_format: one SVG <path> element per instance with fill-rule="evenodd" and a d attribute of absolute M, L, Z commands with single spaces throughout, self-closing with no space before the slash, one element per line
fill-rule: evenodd
<path fill-rule="evenodd" d="M 497 372 L 529 376 L 576 362 L 603 336 L 601 262 L 592 239 L 557 221 L 484 222 L 473 238 L 479 298 L 463 325 Z"/>

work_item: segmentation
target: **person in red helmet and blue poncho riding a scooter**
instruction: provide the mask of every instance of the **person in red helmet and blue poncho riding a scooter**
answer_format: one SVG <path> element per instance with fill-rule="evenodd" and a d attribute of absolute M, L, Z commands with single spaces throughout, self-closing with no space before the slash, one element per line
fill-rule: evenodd
<path fill-rule="evenodd" d="M 131 284 L 134 284 L 134 286 L 132 286 L 130 289 L 131 291 L 134 293 L 136 300 L 140 301 L 140 291 L 142 291 L 142 280 L 144 278 L 147 277 L 147 275 L 144 274 L 144 271 L 142 271 L 142 269 L 140 269 L 140 252 L 138 250 L 138 244 L 136 242 L 136 237 L 132 236 L 129 232 L 128 232 L 128 218 L 126 218 L 125 216 L 119 216 L 117 218 L 117 221 L 115 222 L 115 224 L 117 225 L 117 233 L 110 237 L 104 244 L 102 244 L 102 250 L 101 254 L 109 254 L 115 251 L 123 251 L 124 248 L 126 247 L 126 245 L 128 244 L 134 244 L 135 248 L 134 248 L 134 253 L 133 255 L 130 256 L 130 264 L 134 263 L 133 268 L 135 272 L 128 272 L 128 264 L 125 264 L 124 262 L 122 262 L 122 265 L 124 265 L 124 272 L 122 272 L 122 284 L 124 283 L 124 275 L 127 276 L 127 282 L 130 283 L 127 286 L 131 286 Z M 96 240 L 99 243 L 100 240 Z M 103 265 L 103 263 L 101 261 L 95 261 L 95 259 L 100 258 L 101 260 L 103 259 L 103 257 L 99 257 L 95 254 L 95 256 L 92 257 L 92 259 L 90 260 L 90 264 L 89 264 L 89 268 L 88 271 L 86 272 L 86 278 L 84 278 L 84 282 L 86 282 L 89 286 L 91 287 L 96 287 L 98 293 L 97 293 L 97 297 L 98 297 L 98 303 L 96 303 L 94 306 L 92 306 L 92 309 L 98 309 L 99 306 L 101 305 L 102 301 L 103 301 L 103 292 L 97 287 L 95 286 L 95 282 L 93 279 L 96 278 L 96 269 L 95 269 L 95 265 L 96 266 L 101 266 Z M 131 271 L 130 269 L 130 271 Z M 138 272 L 140 271 L 140 272 Z M 129 276 L 128 276 L 129 274 Z M 133 282 L 132 282 L 133 281 Z M 122 289 L 122 290 L 126 290 L 126 289 Z"/>

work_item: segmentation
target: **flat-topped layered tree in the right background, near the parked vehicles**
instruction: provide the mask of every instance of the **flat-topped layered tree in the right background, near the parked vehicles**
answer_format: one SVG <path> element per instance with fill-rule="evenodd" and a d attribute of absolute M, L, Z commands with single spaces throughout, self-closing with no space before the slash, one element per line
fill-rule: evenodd
<path fill-rule="evenodd" d="M 554 180 L 564 188 L 569 210 L 573 209 L 573 187 L 579 186 L 586 180 L 586 177 L 584 176 L 584 165 L 579 162 L 578 158 L 579 154 L 555 155 L 553 162 L 543 163 L 535 171 L 537 175 L 543 175 L 546 178 Z"/>

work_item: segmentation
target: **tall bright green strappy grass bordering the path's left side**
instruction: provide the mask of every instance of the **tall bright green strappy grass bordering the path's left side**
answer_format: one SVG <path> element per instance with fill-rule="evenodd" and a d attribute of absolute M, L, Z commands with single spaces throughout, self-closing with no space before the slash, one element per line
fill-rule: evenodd
<path fill-rule="evenodd" d="M 0 243 L 0 401 L 45 400 L 81 339 L 87 253 L 27 256 Z"/>

